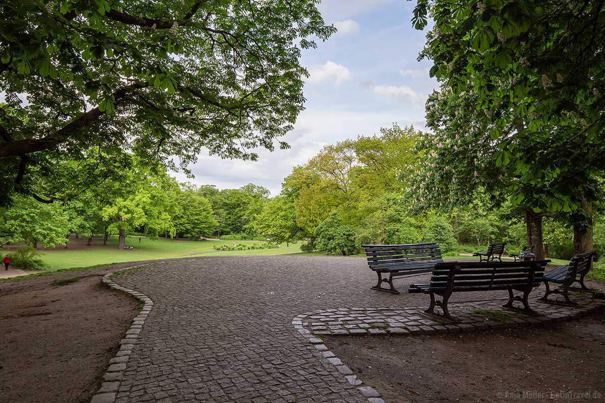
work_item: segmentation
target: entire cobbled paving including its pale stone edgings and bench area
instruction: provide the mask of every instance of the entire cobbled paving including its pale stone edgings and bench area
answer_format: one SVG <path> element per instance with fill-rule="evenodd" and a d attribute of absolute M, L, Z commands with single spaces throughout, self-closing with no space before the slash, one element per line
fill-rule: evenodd
<path fill-rule="evenodd" d="M 536 301 L 540 288 L 531 294 L 538 313 L 528 315 L 503 309 L 503 293 L 460 293 L 469 295 L 450 303 L 456 320 L 448 321 L 425 314 L 423 295 L 370 290 L 373 279 L 365 259 L 299 256 L 204 257 L 107 274 L 103 283 L 143 308 L 91 403 L 384 403 L 322 335 L 505 329 L 605 306 L 600 292 L 574 292 L 575 306 Z"/>

